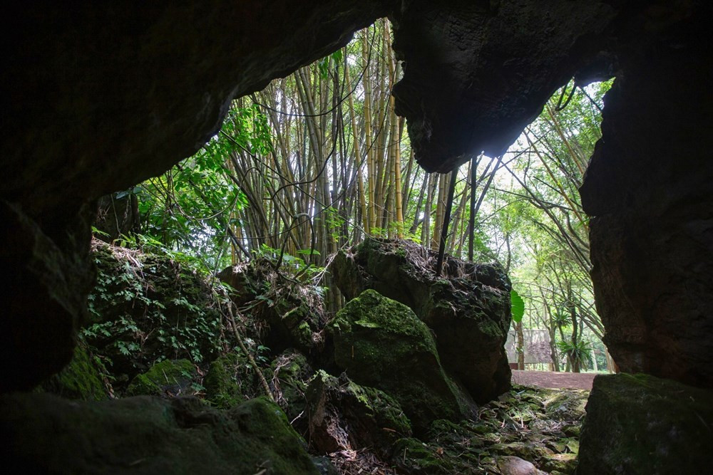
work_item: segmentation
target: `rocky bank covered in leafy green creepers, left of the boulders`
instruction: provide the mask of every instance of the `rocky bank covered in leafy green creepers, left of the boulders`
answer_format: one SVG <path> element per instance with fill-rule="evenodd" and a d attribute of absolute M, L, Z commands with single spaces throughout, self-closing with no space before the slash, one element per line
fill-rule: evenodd
<path fill-rule="evenodd" d="M 227 296 L 198 271 L 195 259 L 101 244 L 94 256 L 98 275 L 88 296 L 92 321 L 81 334 L 111 358 L 113 370 L 138 372 L 155 355 L 202 362 L 220 351 L 218 307 Z"/>

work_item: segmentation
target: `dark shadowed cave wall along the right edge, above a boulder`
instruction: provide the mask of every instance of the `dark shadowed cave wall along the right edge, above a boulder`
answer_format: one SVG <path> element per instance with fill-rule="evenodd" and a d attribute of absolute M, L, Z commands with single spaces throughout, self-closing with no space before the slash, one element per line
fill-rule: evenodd
<path fill-rule="evenodd" d="M 713 387 L 713 135 L 703 132 L 713 69 L 699 58 L 702 28 L 672 31 L 622 64 L 580 193 L 595 216 L 592 278 L 617 365 Z"/>

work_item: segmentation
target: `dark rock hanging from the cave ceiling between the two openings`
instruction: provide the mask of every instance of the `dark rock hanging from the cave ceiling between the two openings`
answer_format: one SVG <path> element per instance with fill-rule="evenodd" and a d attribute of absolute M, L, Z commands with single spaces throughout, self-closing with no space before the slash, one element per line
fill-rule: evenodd
<path fill-rule="evenodd" d="M 481 150 L 505 152 L 555 90 L 597 58 L 616 3 L 404 1 L 394 50 L 406 66 L 394 97 L 419 164 L 450 172 Z"/>

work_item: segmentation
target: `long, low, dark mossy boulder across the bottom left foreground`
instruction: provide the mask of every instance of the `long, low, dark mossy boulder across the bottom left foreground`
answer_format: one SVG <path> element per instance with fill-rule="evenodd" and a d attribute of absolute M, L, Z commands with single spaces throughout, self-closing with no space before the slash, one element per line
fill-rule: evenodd
<path fill-rule="evenodd" d="M 0 396 L 9 473 L 314 474 L 282 410 L 258 398 L 230 410 L 193 397 L 73 402 Z"/>

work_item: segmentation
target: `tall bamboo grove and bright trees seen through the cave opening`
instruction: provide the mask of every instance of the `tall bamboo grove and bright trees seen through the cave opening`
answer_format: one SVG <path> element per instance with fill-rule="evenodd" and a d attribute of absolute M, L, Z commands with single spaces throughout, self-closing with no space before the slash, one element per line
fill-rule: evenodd
<path fill-rule="evenodd" d="M 569 85 L 502 157 L 476 154 L 451 174 L 429 174 L 394 112 L 401 63 L 390 45 L 389 22 L 377 21 L 342 50 L 235 100 L 197 154 L 114 198 L 138 201 L 134 231 L 144 241 L 213 271 L 255 256 L 309 268 L 302 278 L 326 289 L 332 311 L 342 297 L 325 271 L 330 256 L 366 236 L 498 259 L 528 302 L 525 324 L 568 342 L 553 345 L 573 356 L 568 364 L 584 362 L 577 345 L 585 334 L 599 341 L 603 327 L 577 189 L 608 85 Z"/>

